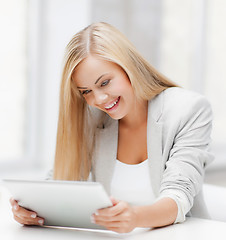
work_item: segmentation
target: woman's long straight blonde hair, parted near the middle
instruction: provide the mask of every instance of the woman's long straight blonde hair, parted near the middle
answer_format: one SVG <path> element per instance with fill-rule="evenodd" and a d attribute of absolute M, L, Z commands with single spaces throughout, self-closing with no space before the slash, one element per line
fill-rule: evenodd
<path fill-rule="evenodd" d="M 97 123 L 91 120 L 92 113 L 72 81 L 76 66 L 88 55 L 118 64 L 128 75 L 138 99 L 150 100 L 176 86 L 111 25 L 91 24 L 74 35 L 66 48 L 62 73 L 54 179 L 86 180 L 91 170 Z"/>

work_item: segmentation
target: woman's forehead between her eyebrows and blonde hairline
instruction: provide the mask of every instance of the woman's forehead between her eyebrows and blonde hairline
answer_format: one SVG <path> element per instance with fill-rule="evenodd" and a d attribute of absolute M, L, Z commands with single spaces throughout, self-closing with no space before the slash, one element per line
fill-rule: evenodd
<path fill-rule="evenodd" d="M 118 71 L 120 67 L 112 62 L 88 56 L 76 67 L 72 79 L 77 86 L 94 83 L 103 74 Z"/>

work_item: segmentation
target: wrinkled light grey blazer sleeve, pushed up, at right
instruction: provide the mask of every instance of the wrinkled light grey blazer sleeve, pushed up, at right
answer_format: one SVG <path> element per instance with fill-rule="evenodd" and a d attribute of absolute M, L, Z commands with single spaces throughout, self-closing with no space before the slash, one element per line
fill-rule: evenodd
<path fill-rule="evenodd" d="M 178 206 L 176 222 L 183 222 L 202 188 L 206 165 L 213 160 L 209 152 L 212 111 L 200 96 L 184 106 L 179 114 L 174 141 L 165 164 L 160 198 L 170 197 Z"/>

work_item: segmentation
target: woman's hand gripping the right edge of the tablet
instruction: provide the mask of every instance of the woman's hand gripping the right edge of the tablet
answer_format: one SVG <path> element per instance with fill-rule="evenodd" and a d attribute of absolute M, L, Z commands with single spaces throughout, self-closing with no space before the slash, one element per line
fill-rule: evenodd
<path fill-rule="evenodd" d="M 131 232 L 137 226 L 137 214 L 135 208 L 127 202 L 111 198 L 112 207 L 99 209 L 92 215 L 95 224 L 118 233 Z"/>

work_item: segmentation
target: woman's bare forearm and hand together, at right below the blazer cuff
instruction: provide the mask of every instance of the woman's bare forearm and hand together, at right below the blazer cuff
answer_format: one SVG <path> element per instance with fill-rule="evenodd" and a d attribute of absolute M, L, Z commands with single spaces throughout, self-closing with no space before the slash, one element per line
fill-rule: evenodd
<path fill-rule="evenodd" d="M 109 230 L 125 233 L 135 227 L 154 228 L 170 225 L 177 217 L 177 204 L 163 198 L 148 206 L 130 206 L 112 198 L 113 207 L 100 209 L 92 216 L 94 223 Z"/>

